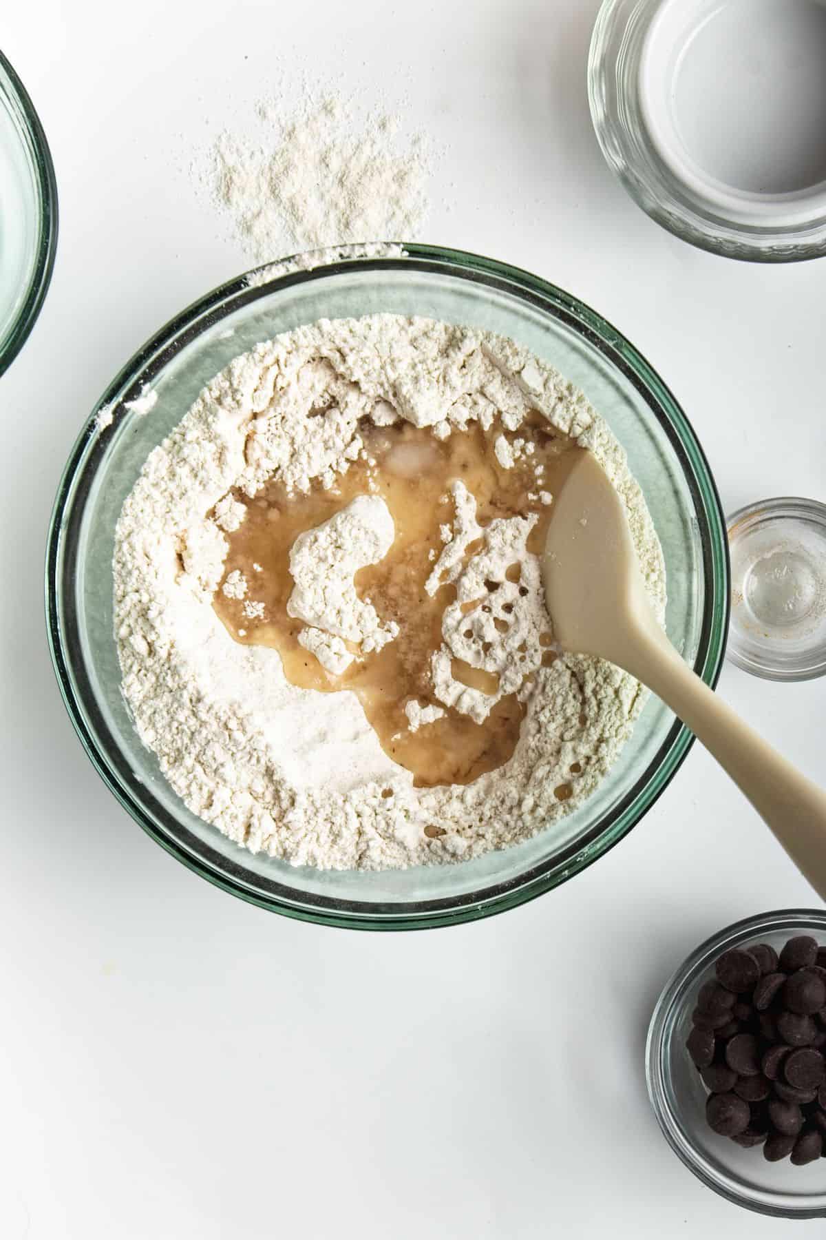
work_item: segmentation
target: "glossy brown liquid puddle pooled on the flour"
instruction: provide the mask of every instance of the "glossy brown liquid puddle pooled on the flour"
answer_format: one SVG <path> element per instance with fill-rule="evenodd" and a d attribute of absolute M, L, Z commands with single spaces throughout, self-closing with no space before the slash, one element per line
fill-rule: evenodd
<path fill-rule="evenodd" d="M 502 433 L 498 427 L 485 434 L 472 425 L 467 432 L 454 430 L 446 440 L 406 422 L 384 428 L 365 422 L 359 433 L 364 453 L 329 490 L 317 482 L 306 495 L 287 494 L 280 482 L 271 481 L 251 500 L 233 492 L 246 515 L 227 536 L 225 577 L 234 570 L 243 573 L 248 601 L 227 598 L 218 589 L 213 605 L 235 641 L 277 650 L 292 684 L 318 693 L 354 692 L 383 749 L 412 773 L 416 786 L 469 784 L 510 759 L 525 708 L 516 693 L 510 693 L 495 703 L 484 722 L 476 723 L 454 708 L 445 708 L 433 696 L 431 656 L 442 646 L 442 614 L 454 601 L 456 587 L 442 585 L 431 596 L 425 582 L 445 546 L 441 527 L 452 527 L 450 487 L 457 479 L 464 482 L 477 500 L 477 520 L 483 527 L 497 517 L 537 513 L 528 538 L 528 551 L 537 554 L 551 513 L 540 494 L 554 495 L 562 486 L 581 449 L 539 414 L 514 435 L 505 434 L 509 441 L 520 438 L 534 445 L 533 453 L 523 451 L 510 469 L 502 466 L 493 449 Z M 539 479 L 536 466 L 544 466 Z M 384 500 L 393 516 L 395 539 L 383 560 L 357 572 L 355 589 L 359 598 L 373 604 L 384 624 L 399 625 L 399 635 L 380 651 L 364 656 L 358 646 L 347 642 L 359 657 L 334 676 L 298 642 L 305 624 L 287 614 L 295 584 L 290 549 L 298 534 L 316 528 L 359 495 Z M 480 542 L 472 543 L 468 553 L 480 547 Z M 514 570 L 511 567 L 509 575 Z M 488 582 L 485 587 L 493 591 L 498 584 Z M 263 615 L 250 614 L 261 609 L 250 609 L 249 600 L 263 604 Z M 484 608 L 485 600 L 473 601 L 468 611 L 477 606 Z M 550 626 L 541 641 L 551 645 Z M 555 657 L 546 651 L 546 666 Z M 497 677 L 482 668 L 453 660 L 452 672 L 456 680 L 483 693 L 498 691 Z M 405 714 L 410 701 L 420 707 L 440 707 L 445 713 L 412 732 Z M 557 789 L 560 800 L 566 795 L 568 787 Z"/>

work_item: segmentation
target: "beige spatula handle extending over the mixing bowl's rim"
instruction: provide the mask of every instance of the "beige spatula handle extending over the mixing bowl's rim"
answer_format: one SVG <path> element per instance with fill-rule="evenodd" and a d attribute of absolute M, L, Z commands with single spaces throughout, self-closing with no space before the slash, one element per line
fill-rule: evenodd
<path fill-rule="evenodd" d="M 731 775 L 821 899 L 826 900 L 826 792 L 801 775 L 696 676 L 660 634 L 640 640 L 641 680 Z"/>

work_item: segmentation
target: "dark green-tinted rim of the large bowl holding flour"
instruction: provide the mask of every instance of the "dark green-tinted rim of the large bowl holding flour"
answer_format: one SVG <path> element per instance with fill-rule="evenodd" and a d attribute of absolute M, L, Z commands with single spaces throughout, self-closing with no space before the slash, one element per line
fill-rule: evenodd
<path fill-rule="evenodd" d="M 111 382 L 98 408 L 113 401 L 137 397 L 142 384 L 151 383 L 167 361 L 183 345 L 197 339 L 203 327 L 214 325 L 230 311 L 263 295 L 269 295 L 277 288 L 329 278 L 346 270 L 370 272 L 414 268 L 417 272 L 459 277 L 516 295 L 523 301 L 544 310 L 555 320 L 573 329 L 581 339 L 598 350 L 622 372 L 625 379 L 646 399 L 680 460 L 700 518 L 698 533 L 705 577 L 705 608 L 695 670 L 713 687 L 723 663 L 729 611 L 726 520 L 702 448 L 689 419 L 667 387 L 615 327 L 577 298 L 546 280 L 520 268 L 463 250 L 405 244 L 404 252 L 402 257 L 393 258 L 342 259 L 311 270 L 279 275 L 272 280 L 266 280 L 267 268 L 263 267 L 229 280 L 170 320 L 140 348 Z M 250 283 L 250 277 L 254 278 L 253 283 Z M 69 676 L 69 662 L 72 661 L 72 651 L 77 656 L 79 644 L 77 640 L 64 640 L 62 634 L 66 616 L 62 609 L 62 578 L 58 578 L 58 569 L 63 543 L 69 542 L 66 520 L 73 517 L 76 522 L 79 522 L 82 518 L 82 506 L 77 515 L 72 510 L 78 477 L 88 466 L 90 456 L 99 458 L 102 455 L 100 444 L 107 434 L 104 432 L 100 435 L 95 430 L 94 417 L 90 417 L 74 444 L 54 501 L 46 558 L 46 614 L 50 651 L 72 723 L 90 760 L 109 789 L 157 843 L 215 887 L 286 916 L 350 929 L 430 929 L 490 916 L 551 890 L 602 857 L 654 805 L 684 761 L 693 737 L 687 728 L 675 720 L 653 761 L 649 763 L 634 787 L 599 825 L 599 830 L 594 825 L 585 838 L 580 837 L 555 858 L 547 858 L 515 878 L 476 893 L 433 900 L 380 904 L 342 900 L 316 894 L 308 895 L 284 883 L 264 879 L 259 875 L 255 878 L 258 889 L 250 890 L 244 877 L 246 872 L 243 864 L 234 864 L 203 842 L 197 843 L 198 856 L 193 856 L 178 842 L 178 839 L 189 838 L 186 828 L 178 822 L 172 822 L 178 837 L 176 839 L 162 833 L 155 823 L 149 821 L 142 807 L 133 800 L 129 790 L 121 786 L 116 779 L 111 759 L 99 751 L 97 742 L 87 727 L 80 703 L 76 698 Z M 67 601 L 69 603 L 67 610 L 72 611 L 71 594 L 67 595 Z M 69 615 L 69 620 L 72 619 L 73 616 Z M 85 675 L 80 658 L 74 657 L 72 666 L 79 670 L 83 676 Z M 98 723 L 100 723 L 94 701 L 92 696 L 89 697 L 90 701 L 85 703 L 85 707 L 92 715 L 98 714 Z M 126 771 L 128 764 L 123 763 L 123 766 Z M 157 812 L 161 820 L 171 821 L 160 806 Z M 194 847 L 194 837 L 191 838 Z"/>

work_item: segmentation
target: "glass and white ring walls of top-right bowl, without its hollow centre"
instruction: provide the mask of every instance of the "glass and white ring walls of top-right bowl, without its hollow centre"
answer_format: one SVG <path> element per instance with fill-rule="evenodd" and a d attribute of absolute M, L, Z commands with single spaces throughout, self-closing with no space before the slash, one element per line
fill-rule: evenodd
<path fill-rule="evenodd" d="M 826 254 L 826 182 L 794 192 L 739 190 L 702 169 L 680 141 L 671 118 L 672 74 L 712 15 L 711 0 L 604 0 L 588 58 L 602 153 L 637 205 L 692 246 L 749 262 L 820 258 Z M 672 46 L 660 52 L 664 37 Z"/>

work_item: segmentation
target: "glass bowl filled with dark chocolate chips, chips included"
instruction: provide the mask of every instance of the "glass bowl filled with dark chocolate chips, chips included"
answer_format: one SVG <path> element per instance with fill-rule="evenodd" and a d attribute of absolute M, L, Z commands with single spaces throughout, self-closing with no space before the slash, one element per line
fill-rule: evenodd
<path fill-rule="evenodd" d="M 826 911 L 738 921 L 654 1009 L 648 1089 L 708 1188 L 778 1218 L 826 1218 Z"/>

